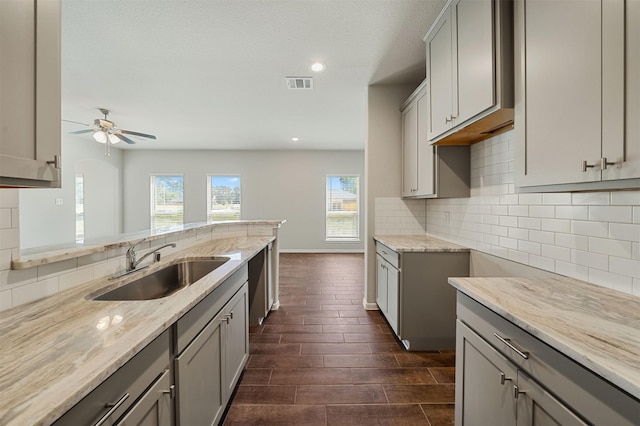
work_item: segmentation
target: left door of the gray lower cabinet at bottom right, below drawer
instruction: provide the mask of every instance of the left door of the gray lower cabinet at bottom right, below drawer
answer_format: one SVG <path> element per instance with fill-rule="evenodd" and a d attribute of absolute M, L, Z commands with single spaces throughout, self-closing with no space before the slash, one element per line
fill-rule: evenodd
<path fill-rule="evenodd" d="M 461 321 L 456 322 L 455 423 L 514 425 L 517 370 Z"/>

